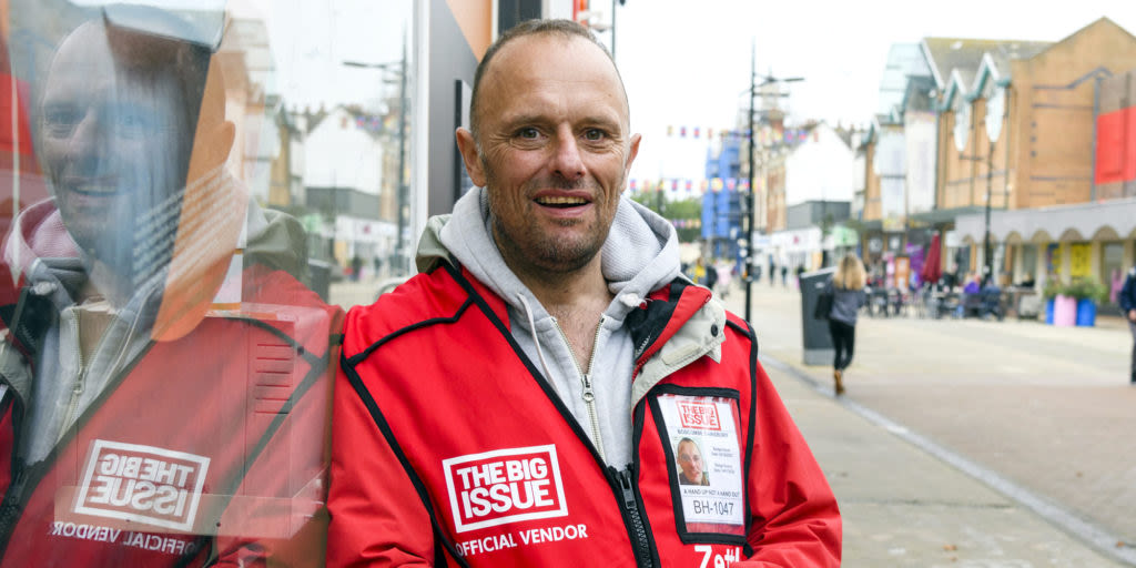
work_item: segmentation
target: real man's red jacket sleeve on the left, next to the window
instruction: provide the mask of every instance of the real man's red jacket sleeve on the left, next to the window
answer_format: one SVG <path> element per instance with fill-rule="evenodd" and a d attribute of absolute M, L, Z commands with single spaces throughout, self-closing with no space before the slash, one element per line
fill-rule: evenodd
<path fill-rule="evenodd" d="M 332 420 L 327 566 L 429 566 L 429 513 L 368 409 L 369 394 L 358 392 L 357 384 L 341 367 Z"/>

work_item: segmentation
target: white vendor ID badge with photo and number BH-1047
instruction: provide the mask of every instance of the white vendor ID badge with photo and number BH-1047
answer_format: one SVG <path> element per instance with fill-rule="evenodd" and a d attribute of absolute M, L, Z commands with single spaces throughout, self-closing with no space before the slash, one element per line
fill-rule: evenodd
<path fill-rule="evenodd" d="M 658 396 L 687 533 L 745 534 L 737 401 L 726 396 Z"/>

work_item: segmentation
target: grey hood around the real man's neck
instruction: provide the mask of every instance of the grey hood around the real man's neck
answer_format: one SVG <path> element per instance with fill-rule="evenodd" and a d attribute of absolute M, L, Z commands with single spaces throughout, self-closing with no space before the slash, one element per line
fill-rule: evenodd
<path fill-rule="evenodd" d="M 608 289 L 619 299 L 609 309 L 609 315 L 620 319 L 652 290 L 679 274 L 678 237 L 674 227 L 626 197 L 619 200 L 600 254 Z M 519 310 L 532 309 L 536 319 L 548 317 L 532 292 L 504 264 L 494 244 L 488 198 L 483 187 L 475 187 L 458 200 L 452 215 L 432 218 L 426 226 L 418 247 L 418 269 L 428 272 L 450 257 L 509 306 Z M 618 314 L 612 314 L 612 310 Z"/>

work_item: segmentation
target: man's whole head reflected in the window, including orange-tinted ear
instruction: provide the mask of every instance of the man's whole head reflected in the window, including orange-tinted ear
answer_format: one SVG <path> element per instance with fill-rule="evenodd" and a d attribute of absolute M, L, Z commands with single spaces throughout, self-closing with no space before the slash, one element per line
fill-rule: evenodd
<path fill-rule="evenodd" d="M 145 259 L 145 252 L 173 242 L 195 134 L 210 131 L 207 117 L 220 134 L 214 153 L 225 156 L 232 144 L 232 125 L 220 124 L 223 97 L 202 102 L 209 50 L 164 33 L 182 25 L 168 12 L 142 10 L 151 30 L 97 19 L 64 39 L 36 120 L 68 232 L 124 277 L 150 272 L 142 265 L 161 259 Z"/>

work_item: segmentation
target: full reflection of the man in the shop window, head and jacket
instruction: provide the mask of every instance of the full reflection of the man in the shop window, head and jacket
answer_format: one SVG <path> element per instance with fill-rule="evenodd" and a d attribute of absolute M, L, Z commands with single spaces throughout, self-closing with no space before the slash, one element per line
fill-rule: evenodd
<path fill-rule="evenodd" d="M 106 7 L 42 77 L 52 199 L 3 256 L 18 277 L 0 306 L 3 566 L 324 554 L 337 311 L 295 277 L 299 224 L 226 173 L 219 66 L 187 25 Z"/>

